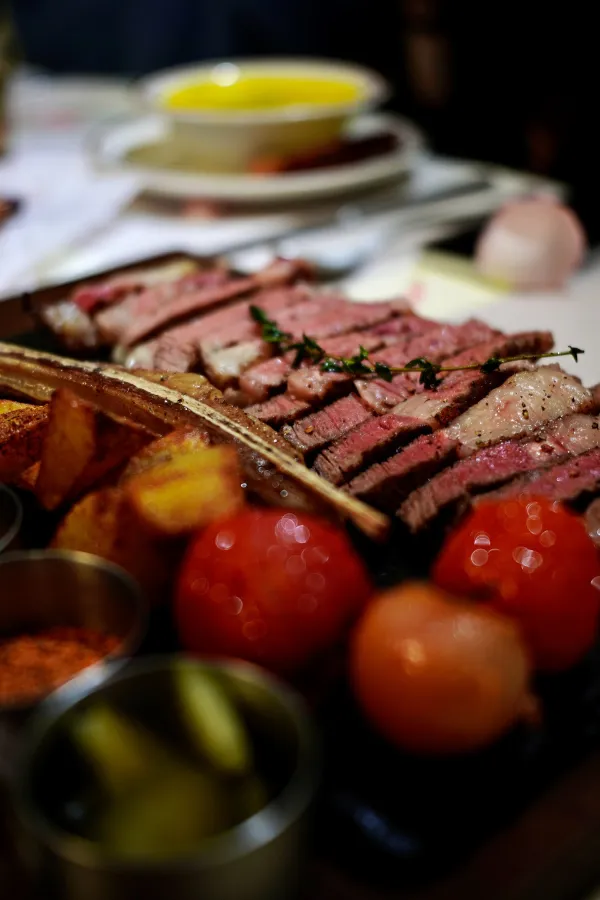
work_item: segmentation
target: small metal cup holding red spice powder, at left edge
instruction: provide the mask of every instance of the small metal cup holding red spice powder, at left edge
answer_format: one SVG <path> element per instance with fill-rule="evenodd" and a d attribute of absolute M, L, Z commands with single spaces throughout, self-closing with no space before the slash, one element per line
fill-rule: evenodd
<path fill-rule="evenodd" d="M 59 550 L 0 556 L 0 641 L 55 626 L 93 628 L 120 638 L 116 650 L 76 679 L 95 685 L 108 677 L 107 662 L 124 665 L 140 644 L 146 619 L 137 583 L 100 557 Z M 26 702 L 0 703 L 0 713 L 27 712 L 52 690 Z"/>

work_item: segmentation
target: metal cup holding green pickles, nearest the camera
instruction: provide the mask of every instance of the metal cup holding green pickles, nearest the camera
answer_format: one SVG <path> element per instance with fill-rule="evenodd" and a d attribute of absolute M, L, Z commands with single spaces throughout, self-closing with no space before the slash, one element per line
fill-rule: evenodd
<path fill-rule="evenodd" d="M 146 724 L 164 727 L 173 708 L 168 657 L 137 661 L 91 689 L 71 682 L 42 704 L 31 723 L 17 778 L 16 809 L 27 837 L 28 860 L 44 897 L 61 900 L 282 900 L 301 883 L 306 830 L 316 786 L 312 726 L 302 701 L 261 669 L 238 662 L 191 664 L 218 669 L 245 715 L 267 727 L 278 753 L 288 754 L 289 777 L 281 792 L 256 815 L 203 842 L 178 860 L 115 862 L 100 846 L 67 833 L 52 815 L 46 795 L 69 778 L 61 735 L 91 696 L 117 703 Z M 67 719 L 69 717 L 69 719 Z M 150 721 L 151 719 L 151 721 Z M 277 757 L 280 759 L 280 757 Z M 72 776 L 71 776 L 72 777 Z M 65 790 L 68 782 L 63 781 Z"/>

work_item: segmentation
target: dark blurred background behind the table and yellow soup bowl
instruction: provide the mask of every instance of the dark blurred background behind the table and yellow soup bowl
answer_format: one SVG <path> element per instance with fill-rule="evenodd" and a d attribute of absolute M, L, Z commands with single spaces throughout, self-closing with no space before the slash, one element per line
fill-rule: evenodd
<path fill-rule="evenodd" d="M 600 240 L 595 3 L 537 0 L 14 0 L 22 52 L 135 76 L 227 56 L 354 60 L 433 147 L 565 180 Z"/>

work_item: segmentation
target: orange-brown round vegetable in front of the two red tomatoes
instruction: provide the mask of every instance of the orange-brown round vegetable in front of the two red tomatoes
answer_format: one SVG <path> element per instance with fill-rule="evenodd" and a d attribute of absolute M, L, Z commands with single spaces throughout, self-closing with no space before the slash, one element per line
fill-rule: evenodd
<path fill-rule="evenodd" d="M 478 750 L 532 712 L 517 626 L 425 583 L 371 602 L 353 636 L 351 675 L 376 729 L 414 753 Z"/>

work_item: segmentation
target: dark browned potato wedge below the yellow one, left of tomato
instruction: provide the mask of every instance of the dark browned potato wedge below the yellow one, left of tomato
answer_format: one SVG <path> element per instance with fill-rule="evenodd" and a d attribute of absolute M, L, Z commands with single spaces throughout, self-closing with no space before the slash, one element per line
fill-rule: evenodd
<path fill-rule="evenodd" d="M 166 596 L 182 552 L 178 543 L 149 534 L 116 487 L 95 491 L 76 503 L 58 526 L 51 547 L 95 553 L 122 566 L 154 603 Z"/>

